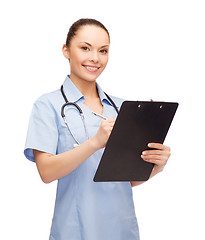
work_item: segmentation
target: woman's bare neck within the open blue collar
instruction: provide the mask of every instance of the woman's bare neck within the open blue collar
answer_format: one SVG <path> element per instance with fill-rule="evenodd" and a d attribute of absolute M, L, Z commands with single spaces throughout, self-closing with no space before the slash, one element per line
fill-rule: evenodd
<path fill-rule="evenodd" d="M 83 94 L 85 98 L 96 98 L 98 97 L 98 92 L 96 88 L 96 81 L 86 81 L 82 79 L 78 79 L 72 74 L 70 75 L 71 81 L 75 84 L 75 86 L 79 89 L 79 91 Z"/>

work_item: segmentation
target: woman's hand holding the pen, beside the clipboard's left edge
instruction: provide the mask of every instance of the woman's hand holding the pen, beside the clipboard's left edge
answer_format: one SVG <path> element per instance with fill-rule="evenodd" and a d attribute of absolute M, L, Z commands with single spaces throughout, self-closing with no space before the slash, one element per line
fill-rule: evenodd
<path fill-rule="evenodd" d="M 97 134 L 93 137 L 93 141 L 97 149 L 101 149 L 106 146 L 108 138 L 115 124 L 115 120 L 116 119 L 109 118 L 101 122 Z"/>

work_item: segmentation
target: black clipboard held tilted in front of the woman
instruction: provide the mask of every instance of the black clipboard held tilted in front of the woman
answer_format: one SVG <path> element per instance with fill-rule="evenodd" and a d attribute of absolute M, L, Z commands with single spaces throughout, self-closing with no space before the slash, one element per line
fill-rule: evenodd
<path fill-rule="evenodd" d="M 148 180 L 154 165 L 141 158 L 142 151 L 150 142 L 164 142 L 177 108 L 173 102 L 123 102 L 93 180 Z"/>

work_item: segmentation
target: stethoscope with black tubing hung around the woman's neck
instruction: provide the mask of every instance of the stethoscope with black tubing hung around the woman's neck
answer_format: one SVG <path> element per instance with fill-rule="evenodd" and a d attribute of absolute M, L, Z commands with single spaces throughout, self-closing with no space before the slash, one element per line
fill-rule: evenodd
<path fill-rule="evenodd" d="M 65 100 L 65 103 L 62 105 L 61 107 L 61 116 L 65 122 L 65 125 L 66 127 L 68 128 L 68 131 L 70 132 L 71 136 L 73 137 L 73 139 L 75 140 L 76 144 L 74 144 L 74 147 L 77 147 L 80 145 L 80 142 L 76 139 L 76 137 L 73 135 L 70 127 L 68 126 L 68 122 L 66 120 L 66 116 L 65 116 L 65 107 L 66 106 L 74 106 L 80 113 L 80 116 L 81 116 L 81 119 L 82 119 L 82 122 L 83 122 L 83 126 L 84 126 L 84 129 L 85 129 L 85 134 L 86 134 L 86 138 L 89 139 L 89 135 L 88 135 L 88 130 L 87 130 L 87 127 L 86 127 L 86 124 L 85 124 L 85 117 L 84 117 L 84 114 L 83 114 L 83 111 L 82 109 L 79 107 L 78 104 L 74 103 L 74 102 L 69 102 L 64 91 L 63 91 L 63 85 L 61 86 L 61 93 L 62 93 L 62 96 Z M 105 93 L 105 92 L 104 92 Z M 116 112 L 119 113 L 119 110 L 117 108 L 117 106 L 115 105 L 114 101 L 111 99 L 111 97 L 109 97 L 109 95 L 107 95 L 105 93 L 106 97 L 108 98 L 108 100 L 111 102 L 111 104 L 113 105 L 113 107 L 115 108 Z"/>

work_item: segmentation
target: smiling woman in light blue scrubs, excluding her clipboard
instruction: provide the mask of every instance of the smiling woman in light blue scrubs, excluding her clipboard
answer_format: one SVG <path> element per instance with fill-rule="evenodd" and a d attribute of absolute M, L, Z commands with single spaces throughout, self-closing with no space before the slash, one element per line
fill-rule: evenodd
<path fill-rule="evenodd" d="M 110 98 L 96 82 L 107 65 L 109 46 L 109 33 L 100 22 L 75 22 L 62 48 L 70 63 L 63 91 L 44 94 L 33 106 L 25 156 L 36 162 L 43 182 L 58 180 L 50 240 L 139 240 L 132 186 L 140 183 L 93 181 L 123 102 Z M 74 106 L 83 112 L 83 121 Z M 143 152 L 142 159 L 155 163 L 152 177 L 162 171 L 170 150 L 162 144 L 150 147 L 157 150 Z"/>

